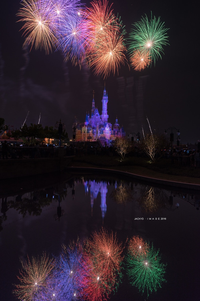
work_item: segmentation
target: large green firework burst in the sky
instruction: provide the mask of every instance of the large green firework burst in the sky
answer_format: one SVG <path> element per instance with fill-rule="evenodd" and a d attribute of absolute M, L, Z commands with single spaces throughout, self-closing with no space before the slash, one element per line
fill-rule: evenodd
<path fill-rule="evenodd" d="M 129 34 L 128 52 L 130 56 L 134 51 L 149 51 L 149 59 L 155 61 L 163 52 L 163 45 L 169 45 L 167 31 L 164 22 L 160 22 L 160 17 L 156 20 L 155 16 L 148 20 L 147 16 L 142 17 L 141 21 L 134 24 L 134 29 Z"/>

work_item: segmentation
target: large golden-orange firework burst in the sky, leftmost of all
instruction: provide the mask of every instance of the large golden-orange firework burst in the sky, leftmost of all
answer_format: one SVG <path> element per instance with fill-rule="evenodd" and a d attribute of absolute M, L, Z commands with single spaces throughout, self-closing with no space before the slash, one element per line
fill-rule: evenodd
<path fill-rule="evenodd" d="M 19 21 L 24 21 L 22 26 L 24 29 L 25 43 L 35 44 L 35 48 L 43 48 L 46 53 L 51 51 L 52 45 L 57 44 L 57 39 L 51 30 L 51 2 L 48 0 L 37 1 L 22 0 L 22 8 L 19 9 L 17 16 L 22 17 Z"/>

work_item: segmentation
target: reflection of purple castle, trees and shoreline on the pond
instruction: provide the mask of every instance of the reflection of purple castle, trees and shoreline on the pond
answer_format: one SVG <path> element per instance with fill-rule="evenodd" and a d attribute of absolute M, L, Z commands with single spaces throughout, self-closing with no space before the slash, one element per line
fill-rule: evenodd
<path fill-rule="evenodd" d="M 23 192 L 22 194 L 7 193 L 6 197 L 0 198 L 1 216 L 0 230 L 3 229 L 3 222 L 7 220 L 7 211 L 15 208 L 22 217 L 39 216 L 44 207 L 50 206 L 52 203 L 58 203 L 57 213 L 54 219 L 59 220 L 65 213 L 62 209 L 62 202 L 66 199 L 67 190 L 72 192 L 72 200 L 75 198 L 76 189 L 80 189 L 79 185 L 83 185 L 85 196 L 90 196 L 91 215 L 93 215 L 93 205 L 98 195 L 101 199 L 101 217 L 104 219 L 107 211 L 107 198 L 109 197 L 117 204 L 128 204 L 134 202 L 138 205 L 142 213 L 158 213 L 162 210 L 174 211 L 178 209 L 179 203 L 174 202 L 173 198 L 182 199 L 193 205 L 197 210 L 200 207 L 200 193 L 185 193 L 180 191 L 169 191 L 158 187 L 138 184 L 137 182 L 128 182 L 125 180 L 98 180 L 88 178 L 88 176 L 80 176 L 71 178 L 68 181 L 56 183 L 50 187 L 38 189 L 34 191 Z M 108 195 L 108 186 L 112 189 Z"/>

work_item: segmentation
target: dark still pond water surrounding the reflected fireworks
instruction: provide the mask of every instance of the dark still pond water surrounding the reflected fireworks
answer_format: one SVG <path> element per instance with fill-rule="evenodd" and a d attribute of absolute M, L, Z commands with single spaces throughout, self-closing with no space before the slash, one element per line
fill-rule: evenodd
<path fill-rule="evenodd" d="M 200 300 L 200 192 L 152 187 L 113 176 L 62 174 L 1 182 L 0 300 L 12 294 L 20 260 L 58 256 L 62 244 L 103 226 L 124 244 L 139 235 L 160 249 L 166 282 L 148 300 Z M 140 219 L 139 219 L 140 218 Z M 127 247 L 124 252 L 126 253 Z M 112 300 L 147 300 L 126 269 Z"/>

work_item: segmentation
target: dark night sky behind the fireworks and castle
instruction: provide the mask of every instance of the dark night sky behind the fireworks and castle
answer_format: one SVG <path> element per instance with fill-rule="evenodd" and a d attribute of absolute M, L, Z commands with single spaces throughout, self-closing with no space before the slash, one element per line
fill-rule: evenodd
<path fill-rule="evenodd" d="M 109 1 L 111 5 L 112 2 Z M 86 3 L 89 5 L 89 1 Z M 57 120 L 66 124 L 69 137 L 77 116 L 84 122 L 86 110 L 95 104 L 101 114 L 104 79 L 92 70 L 73 67 L 63 62 L 59 51 L 46 55 L 44 51 L 22 48 L 22 22 L 16 23 L 19 0 L 4 1 L 1 14 L 0 50 L 0 117 L 6 124 L 19 128 L 26 123 L 53 126 Z M 119 75 L 106 79 L 108 93 L 108 121 L 116 116 L 126 133 L 148 129 L 164 132 L 176 127 L 181 132 L 181 143 L 195 143 L 200 139 L 199 97 L 197 96 L 198 40 L 197 11 L 190 2 L 178 1 L 115 1 L 114 14 L 119 13 L 126 31 L 142 16 L 152 15 L 169 28 L 169 44 L 163 46 L 162 60 L 142 72 L 122 66 Z M 127 56 L 128 57 L 128 56 Z M 168 131 L 170 132 L 170 131 Z M 174 131 L 176 133 L 176 130 Z M 176 134 L 175 134 L 176 138 Z"/>

